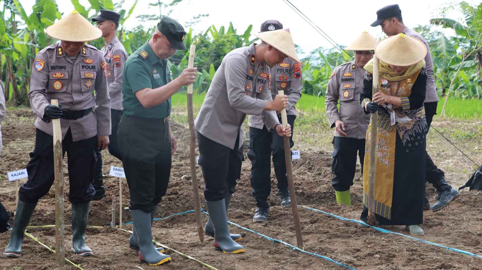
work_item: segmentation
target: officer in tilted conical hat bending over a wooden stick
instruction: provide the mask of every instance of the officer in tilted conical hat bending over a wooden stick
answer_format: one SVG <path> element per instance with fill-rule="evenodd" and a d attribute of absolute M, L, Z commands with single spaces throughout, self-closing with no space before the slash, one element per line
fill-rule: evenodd
<path fill-rule="evenodd" d="M 288 97 L 278 95 L 272 100 L 268 77 L 269 67 L 286 57 L 296 59 L 293 39 L 288 30 L 258 33 L 256 37 L 263 41 L 230 51 L 224 57 L 195 121 L 199 165 L 206 183 L 204 197 L 209 208 L 205 230 L 209 227 L 214 231 L 214 247 L 228 253 L 244 252 L 229 233 L 226 217 L 236 180 L 241 176 L 241 124 L 247 114 L 260 115 L 270 131 L 291 136 L 291 129 L 282 128 L 275 113 L 287 106 Z"/>

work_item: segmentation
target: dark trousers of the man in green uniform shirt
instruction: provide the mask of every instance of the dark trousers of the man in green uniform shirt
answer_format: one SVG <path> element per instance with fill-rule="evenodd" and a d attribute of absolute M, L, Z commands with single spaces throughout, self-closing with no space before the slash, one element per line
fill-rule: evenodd
<path fill-rule="evenodd" d="M 163 119 L 123 115 L 118 129 L 131 210 L 150 213 L 166 194 L 171 176 L 171 136 Z"/>

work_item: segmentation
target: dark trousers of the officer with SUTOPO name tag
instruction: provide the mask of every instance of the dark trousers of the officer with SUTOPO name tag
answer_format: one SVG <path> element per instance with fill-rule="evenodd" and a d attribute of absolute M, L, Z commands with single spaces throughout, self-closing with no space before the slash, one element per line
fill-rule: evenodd
<path fill-rule="evenodd" d="M 91 201 L 95 194 L 92 187 L 97 156 L 97 136 L 72 141 L 70 129 L 62 141 L 62 154 L 67 152 L 69 194 L 72 204 Z M 18 199 L 27 204 L 36 204 L 47 194 L 54 183 L 54 138 L 40 129 L 36 131 L 35 149 L 27 164 L 28 180 L 18 191 Z"/>

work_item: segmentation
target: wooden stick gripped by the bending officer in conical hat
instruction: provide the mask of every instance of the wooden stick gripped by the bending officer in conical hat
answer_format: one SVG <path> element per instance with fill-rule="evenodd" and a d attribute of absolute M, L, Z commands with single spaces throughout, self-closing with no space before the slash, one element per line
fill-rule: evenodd
<path fill-rule="evenodd" d="M 278 91 L 278 95 L 284 95 L 283 90 Z M 286 117 L 286 109 L 281 111 L 281 124 L 283 128 L 288 125 L 288 118 Z M 291 150 L 290 150 L 290 138 L 283 136 L 284 143 L 284 160 L 286 162 L 286 176 L 288 177 L 288 187 L 290 189 L 291 196 L 291 209 L 293 211 L 293 218 L 295 219 L 296 230 L 296 243 L 298 248 L 303 249 L 303 236 L 301 235 L 300 217 L 298 215 L 298 205 L 296 203 L 295 183 L 293 182 L 293 170 L 291 167 Z"/>

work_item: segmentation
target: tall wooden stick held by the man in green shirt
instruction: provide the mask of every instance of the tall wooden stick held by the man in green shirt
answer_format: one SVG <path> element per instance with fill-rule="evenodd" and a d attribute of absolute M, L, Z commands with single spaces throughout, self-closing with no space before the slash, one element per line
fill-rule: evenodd
<path fill-rule="evenodd" d="M 194 51 L 196 51 L 196 45 L 191 45 L 189 61 L 187 62 L 188 68 L 194 66 Z M 187 118 L 191 135 L 189 161 L 191 165 L 192 191 L 194 193 L 194 209 L 196 209 L 196 224 L 198 227 L 199 240 L 202 243 L 204 242 L 204 231 L 202 230 L 201 199 L 199 198 L 198 178 L 196 174 L 196 130 L 194 129 L 194 114 L 192 112 L 192 84 L 187 86 Z"/>

